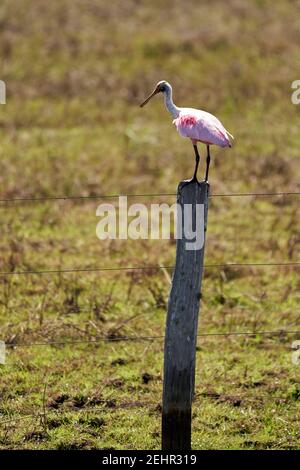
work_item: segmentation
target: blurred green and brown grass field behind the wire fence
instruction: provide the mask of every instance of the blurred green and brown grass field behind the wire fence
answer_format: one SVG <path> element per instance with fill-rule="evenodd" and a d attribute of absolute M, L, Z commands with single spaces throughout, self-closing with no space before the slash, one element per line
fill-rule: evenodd
<path fill-rule="evenodd" d="M 212 149 L 212 193 L 300 191 L 299 14 L 286 0 L 3 0 L 0 199 L 176 192 L 191 144 L 161 99 L 138 107 L 161 79 L 235 135 Z M 211 198 L 206 263 L 299 262 L 299 201 Z M 1 202 L 0 271 L 174 264 L 174 240 L 99 241 L 100 202 Z M 203 284 L 199 334 L 300 330 L 299 267 L 207 269 Z M 112 339 L 162 336 L 169 289 L 164 271 L 1 275 L 0 449 L 159 449 L 163 340 Z M 193 448 L 300 448 L 296 339 L 199 337 Z"/>

